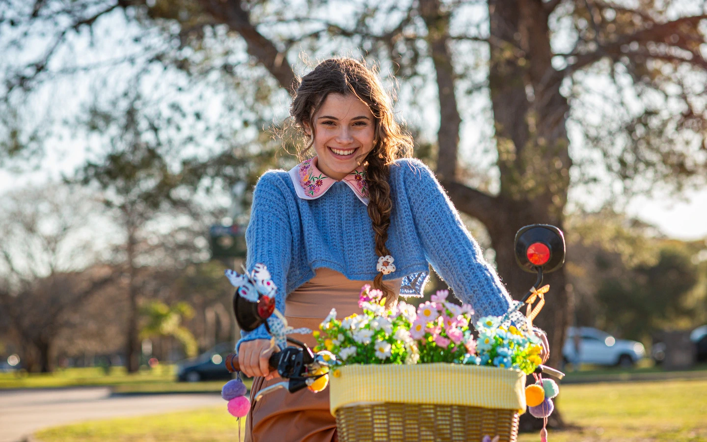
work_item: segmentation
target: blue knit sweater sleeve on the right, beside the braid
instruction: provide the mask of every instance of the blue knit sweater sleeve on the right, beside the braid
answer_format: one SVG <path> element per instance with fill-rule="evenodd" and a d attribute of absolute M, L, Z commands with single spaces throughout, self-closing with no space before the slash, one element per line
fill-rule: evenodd
<path fill-rule="evenodd" d="M 413 221 L 428 262 L 455 296 L 474 308 L 474 322 L 505 314 L 514 301 L 432 171 L 421 161 L 402 167 Z"/>

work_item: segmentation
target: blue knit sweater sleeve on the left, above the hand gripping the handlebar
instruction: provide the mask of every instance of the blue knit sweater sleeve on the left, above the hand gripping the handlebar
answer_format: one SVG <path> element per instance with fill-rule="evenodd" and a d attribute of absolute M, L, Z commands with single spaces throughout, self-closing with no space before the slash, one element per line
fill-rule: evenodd
<path fill-rule="evenodd" d="M 275 307 L 285 313 L 286 277 L 291 262 L 292 233 L 288 217 L 286 198 L 281 187 L 281 178 L 274 172 L 260 177 L 253 192 L 250 222 L 245 231 L 247 245 L 246 268 L 250 272 L 255 264 L 264 264 L 277 287 Z M 254 339 L 270 339 L 265 325 L 246 332 L 235 346 Z"/>

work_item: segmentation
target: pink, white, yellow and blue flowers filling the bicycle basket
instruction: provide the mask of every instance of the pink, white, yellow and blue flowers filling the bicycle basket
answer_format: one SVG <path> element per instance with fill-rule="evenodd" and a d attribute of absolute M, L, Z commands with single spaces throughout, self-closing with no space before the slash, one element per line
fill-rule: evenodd
<path fill-rule="evenodd" d="M 447 301 L 441 290 L 431 302 L 417 308 L 400 302 L 385 308 L 380 290 L 361 289 L 358 306 L 363 314 L 337 319 L 332 309 L 315 331 L 315 351 L 331 351 L 342 364 L 427 364 L 447 362 L 511 368 L 530 374 L 541 364 L 540 341 L 510 322 L 489 316 L 477 322 L 474 310 Z"/>

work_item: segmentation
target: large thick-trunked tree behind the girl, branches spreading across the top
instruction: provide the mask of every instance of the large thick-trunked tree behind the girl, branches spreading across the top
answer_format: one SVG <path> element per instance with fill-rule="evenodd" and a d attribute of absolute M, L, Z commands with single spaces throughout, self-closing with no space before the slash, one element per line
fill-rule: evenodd
<path fill-rule="evenodd" d="M 421 92 L 436 89 L 433 165 L 457 207 L 488 228 L 498 271 L 516 296 L 527 290 L 528 277 L 515 265 L 514 233 L 527 223 L 563 227 L 573 165 L 575 184 L 611 183 L 618 197 L 658 183 L 680 189 L 707 176 L 707 62 L 701 50 L 707 15 L 700 1 L 384 0 L 352 6 L 343 0 L 106 0 L 30 6 L 16 0 L 6 5 L 0 26 L 16 28 L 13 35 L 37 27 L 54 30 L 52 37 L 45 35 L 45 52 L 6 70 L 7 96 L 57 75 L 51 69 L 57 48 L 114 11 L 146 29 L 147 64 L 249 81 L 248 96 L 280 97 L 273 93 L 276 86 L 291 91 L 297 51 L 319 56 L 342 47 L 361 48 L 392 71 L 402 96 L 410 97 L 406 104 L 421 109 L 423 128 L 433 110 L 430 95 Z M 25 44 L 21 37 L 10 42 Z M 474 124 L 484 128 L 481 139 L 488 135 L 485 151 L 460 138 Z M 570 151 L 568 129 L 583 149 Z M 460 156 L 464 149 L 472 156 Z M 461 170 L 470 163 L 477 164 L 471 177 Z M 493 186 L 486 192 L 479 182 L 488 177 Z M 569 303 L 564 271 L 549 281 L 553 302 L 538 322 L 559 349 Z M 550 364 L 559 364 L 559 358 L 554 351 Z"/>

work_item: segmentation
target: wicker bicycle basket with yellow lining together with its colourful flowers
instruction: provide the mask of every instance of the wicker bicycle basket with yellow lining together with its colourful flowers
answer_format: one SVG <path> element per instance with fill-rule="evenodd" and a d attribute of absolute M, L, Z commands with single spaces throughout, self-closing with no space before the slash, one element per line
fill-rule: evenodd
<path fill-rule="evenodd" d="M 313 333 L 315 351 L 341 364 L 329 375 L 342 441 L 379 440 L 381 419 L 392 431 L 382 440 L 424 440 L 412 435 L 433 431 L 435 440 L 515 441 L 526 404 L 539 407 L 531 409 L 537 417 L 552 411 L 554 382 L 547 395 L 542 380 L 525 389 L 525 376 L 542 363 L 537 335 L 505 316 L 480 318 L 474 333 L 472 308 L 447 298 L 443 290 L 417 308 L 387 308 L 382 292 L 366 285 L 363 314 L 339 319 L 332 309 Z"/>

